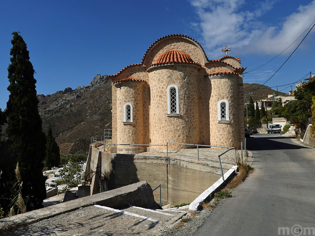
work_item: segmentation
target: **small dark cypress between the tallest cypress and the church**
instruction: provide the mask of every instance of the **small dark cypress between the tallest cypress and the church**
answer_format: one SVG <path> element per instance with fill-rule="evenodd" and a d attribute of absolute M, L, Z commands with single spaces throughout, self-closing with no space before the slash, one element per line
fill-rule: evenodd
<path fill-rule="evenodd" d="M 45 167 L 50 170 L 53 166 L 58 166 L 60 162 L 60 149 L 53 137 L 53 131 L 51 126 L 48 127 L 48 132 L 46 135 L 46 159 Z"/>

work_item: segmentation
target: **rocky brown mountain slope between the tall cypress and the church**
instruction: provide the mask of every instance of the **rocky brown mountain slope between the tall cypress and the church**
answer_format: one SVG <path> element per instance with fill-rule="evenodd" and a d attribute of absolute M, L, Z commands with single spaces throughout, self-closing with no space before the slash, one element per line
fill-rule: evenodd
<path fill-rule="evenodd" d="M 112 127 L 112 85 L 106 75 L 95 76 L 90 85 L 37 98 L 43 131 L 51 125 L 61 153 L 88 151 L 90 138 Z"/>

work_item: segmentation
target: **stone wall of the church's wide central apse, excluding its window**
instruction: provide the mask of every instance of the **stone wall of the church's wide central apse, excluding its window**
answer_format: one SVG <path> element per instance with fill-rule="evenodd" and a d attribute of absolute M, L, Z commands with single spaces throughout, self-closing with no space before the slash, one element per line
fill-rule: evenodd
<path fill-rule="evenodd" d="M 150 71 L 150 138 L 152 144 L 199 143 L 198 68 L 169 65 Z M 167 88 L 179 89 L 180 116 L 167 116 Z M 173 144 L 170 149 L 184 148 Z M 185 145 L 185 148 L 192 146 Z M 157 148 L 159 148 L 157 146 Z M 165 147 L 160 147 L 165 149 Z"/>

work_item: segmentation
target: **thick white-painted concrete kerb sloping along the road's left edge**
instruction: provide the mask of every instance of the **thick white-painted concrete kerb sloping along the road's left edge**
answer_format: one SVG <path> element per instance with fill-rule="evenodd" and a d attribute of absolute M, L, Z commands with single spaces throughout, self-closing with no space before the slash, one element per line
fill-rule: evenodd
<path fill-rule="evenodd" d="M 225 184 L 230 180 L 230 178 L 236 174 L 237 166 L 232 166 L 231 169 L 229 169 L 224 174 L 225 181 L 222 180 L 222 177 L 212 184 L 210 188 L 205 190 L 202 194 L 200 194 L 190 205 L 189 205 L 189 211 L 197 211 L 202 202 L 204 202 L 210 195 L 214 194 L 219 188 L 222 188 L 222 185 Z"/>

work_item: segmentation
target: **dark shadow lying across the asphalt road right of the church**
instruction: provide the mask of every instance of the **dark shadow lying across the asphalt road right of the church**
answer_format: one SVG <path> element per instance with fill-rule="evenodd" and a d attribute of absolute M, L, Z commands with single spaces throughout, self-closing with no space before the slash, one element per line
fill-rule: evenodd
<path fill-rule="evenodd" d="M 281 149 L 305 149 L 301 145 L 295 144 L 290 141 L 292 137 L 259 137 L 254 136 L 246 139 L 246 149 L 251 151 L 260 151 L 260 150 L 281 150 Z"/>

